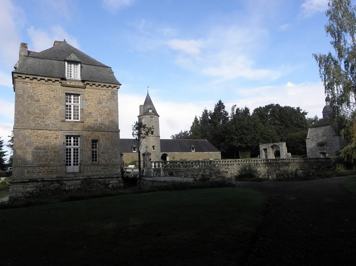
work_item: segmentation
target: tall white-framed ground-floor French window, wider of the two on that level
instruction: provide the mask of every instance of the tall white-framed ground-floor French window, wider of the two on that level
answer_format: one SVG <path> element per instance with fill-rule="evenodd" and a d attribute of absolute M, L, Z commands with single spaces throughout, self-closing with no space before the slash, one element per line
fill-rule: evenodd
<path fill-rule="evenodd" d="M 66 171 L 79 172 L 79 137 L 66 136 Z"/>

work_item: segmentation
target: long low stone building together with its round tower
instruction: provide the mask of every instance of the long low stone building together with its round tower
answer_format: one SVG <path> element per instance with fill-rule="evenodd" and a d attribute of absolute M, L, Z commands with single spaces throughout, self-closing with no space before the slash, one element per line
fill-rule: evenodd
<path fill-rule="evenodd" d="M 152 161 L 169 160 L 221 160 L 220 151 L 206 139 L 161 139 L 159 135 L 159 115 L 147 92 L 143 105 L 140 105 L 138 122 L 145 123 L 148 127 L 153 126 L 140 146 L 141 154 L 149 151 Z M 135 139 L 120 139 L 122 160 L 125 162 L 138 160 L 138 147 Z"/>

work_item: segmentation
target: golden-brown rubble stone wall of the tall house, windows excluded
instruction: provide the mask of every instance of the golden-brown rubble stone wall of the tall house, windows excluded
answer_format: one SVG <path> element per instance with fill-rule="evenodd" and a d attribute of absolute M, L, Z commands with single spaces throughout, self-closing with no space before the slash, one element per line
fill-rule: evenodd
<path fill-rule="evenodd" d="M 23 191 L 31 194 L 30 190 L 47 193 L 48 184 L 52 187 L 56 182 L 64 182 L 60 178 L 77 178 L 82 184 L 87 183 L 84 179 L 99 176 L 103 180 L 119 180 L 117 85 L 18 74 L 14 75 L 14 88 L 12 192 L 16 182 L 17 194 L 21 185 Z M 79 121 L 66 121 L 66 93 L 80 95 Z M 66 172 L 66 135 L 79 136 L 77 173 Z M 91 162 L 91 140 L 98 140 L 96 163 Z"/>

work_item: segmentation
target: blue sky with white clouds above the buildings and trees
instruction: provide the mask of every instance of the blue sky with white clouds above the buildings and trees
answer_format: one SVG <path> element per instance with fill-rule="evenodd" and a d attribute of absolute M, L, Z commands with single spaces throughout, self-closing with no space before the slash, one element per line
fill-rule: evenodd
<path fill-rule="evenodd" d="M 11 71 L 21 42 L 63 40 L 111 66 L 121 138 L 131 137 L 149 86 L 161 138 L 189 129 L 204 107 L 275 103 L 321 116 L 313 52 L 331 50 L 327 0 L 1 0 L 0 136 L 14 121 Z"/>

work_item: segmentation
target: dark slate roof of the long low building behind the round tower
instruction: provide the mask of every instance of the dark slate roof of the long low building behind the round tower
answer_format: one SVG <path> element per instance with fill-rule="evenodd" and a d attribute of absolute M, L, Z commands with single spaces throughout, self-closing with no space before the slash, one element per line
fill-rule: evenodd
<path fill-rule="evenodd" d="M 131 153 L 132 144 L 136 144 L 134 139 L 120 139 L 121 152 Z M 195 152 L 220 152 L 206 139 L 161 139 L 161 153 L 192 152 L 191 146 L 195 147 Z"/>

